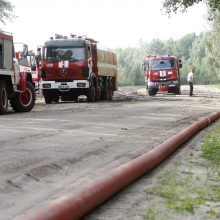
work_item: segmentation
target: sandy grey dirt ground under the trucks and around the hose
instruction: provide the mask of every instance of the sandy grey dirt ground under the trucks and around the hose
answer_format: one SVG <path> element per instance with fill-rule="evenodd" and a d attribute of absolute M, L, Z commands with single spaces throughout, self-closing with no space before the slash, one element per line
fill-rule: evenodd
<path fill-rule="evenodd" d="M 220 91 L 208 86 L 195 86 L 193 97 L 188 96 L 185 86 L 181 95 L 155 97 L 149 97 L 143 87 L 126 87 L 115 93 L 112 102 L 46 105 L 38 98 L 29 113 L 0 116 L 0 219 L 14 219 L 41 203 L 80 189 L 219 109 Z M 167 212 L 148 190 L 164 170 L 176 167 L 176 161 L 184 175 L 182 171 L 192 167 L 190 159 L 195 160 L 189 156 L 196 157 L 212 126 L 83 219 L 149 219 L 146 213 L 152 206 L 162 214 Z M 166 219 L 203 216 L 207 217 L 204 210 L 198 209 L 191 215 L 169 213 Z"/>

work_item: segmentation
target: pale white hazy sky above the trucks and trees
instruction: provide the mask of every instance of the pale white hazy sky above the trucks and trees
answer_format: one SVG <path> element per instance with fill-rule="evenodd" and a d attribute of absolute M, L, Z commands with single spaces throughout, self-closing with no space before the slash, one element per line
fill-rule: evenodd
<path fill-rule="evenodd" d="M 14 40 L 36 50 L 55 34 L 86 35 L 109 48 L 136 46 L 139 39 L 178 39 L 206 30 L 206 7 L 193 6 L 171 18 L 162 0 L 10 0 L 17 18 L 1 25 Z"/>

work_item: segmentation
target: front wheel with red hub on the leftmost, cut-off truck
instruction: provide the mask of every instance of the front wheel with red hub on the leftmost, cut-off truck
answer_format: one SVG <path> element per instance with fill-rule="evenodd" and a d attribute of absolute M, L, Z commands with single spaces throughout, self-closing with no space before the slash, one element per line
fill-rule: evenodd
<path fill-rule="evenodd" d="M 11 107 L 15 112 L 29 112 L 35 105 L 35 89 L 31 82 L 27 82 L 26 91 L 16 93 L 10 100 Z"/>

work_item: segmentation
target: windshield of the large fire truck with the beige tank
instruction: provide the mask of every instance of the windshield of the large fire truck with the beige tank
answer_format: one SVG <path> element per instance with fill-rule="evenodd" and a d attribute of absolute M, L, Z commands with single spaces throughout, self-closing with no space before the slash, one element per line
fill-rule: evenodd
<path fill-rule="evenodd" d="M 44 50 L 44 58 L 46 60 L 85 60 L 85 48 L 80 47 L 46 47 Z"/>

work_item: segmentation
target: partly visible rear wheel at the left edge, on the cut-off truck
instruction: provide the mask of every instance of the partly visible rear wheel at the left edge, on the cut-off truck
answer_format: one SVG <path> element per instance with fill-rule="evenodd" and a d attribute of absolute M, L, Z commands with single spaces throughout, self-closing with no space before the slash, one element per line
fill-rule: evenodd
<path fill-rule="evenodd" d="M 5 114 L 8 111 L 8 91 L 3 80 L 0 81 L 0 114 Z"/>

